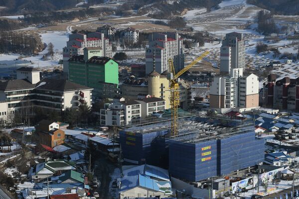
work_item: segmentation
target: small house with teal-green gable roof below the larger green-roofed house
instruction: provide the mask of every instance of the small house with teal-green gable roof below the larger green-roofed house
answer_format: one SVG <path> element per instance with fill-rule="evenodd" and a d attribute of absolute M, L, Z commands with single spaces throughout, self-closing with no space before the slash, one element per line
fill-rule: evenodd
<path fill-rule="evenodd" d="M 73 184 L 73 183 L 84 183 L 84 174 L 76 172 L 74 170 L 68 170 L 60 176 L 55 176 L 51 178 L 53 183 L 57 184 Z"/>

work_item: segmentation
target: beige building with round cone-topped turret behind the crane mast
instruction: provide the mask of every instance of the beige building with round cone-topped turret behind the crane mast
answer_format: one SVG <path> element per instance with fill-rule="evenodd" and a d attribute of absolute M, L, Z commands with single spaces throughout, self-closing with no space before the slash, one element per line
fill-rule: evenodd
<path fill-rule="evenodd" d="M 165 100 L 165 109 L 170 108 L 169 73 L 151 72 L 148 78 L 130 77 L 121 85 L 122 96 L 130 100 L 139 100 L 138 96 L 151 96 Z M 191 104 L 191 88 L 182 79 L 179 80 L 180 107 L 188 109 Z"/>

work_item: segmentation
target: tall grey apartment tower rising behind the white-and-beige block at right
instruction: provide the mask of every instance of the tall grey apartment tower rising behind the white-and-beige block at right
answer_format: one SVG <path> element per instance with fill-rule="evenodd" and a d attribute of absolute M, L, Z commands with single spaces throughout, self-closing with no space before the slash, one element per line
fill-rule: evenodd
<path fill-rule="evenodd" d="M 236 68 L 245 68 L 245 40 L 242 33 L 231 32 L 222 40 L 220 73 L 230 74 Z"/>

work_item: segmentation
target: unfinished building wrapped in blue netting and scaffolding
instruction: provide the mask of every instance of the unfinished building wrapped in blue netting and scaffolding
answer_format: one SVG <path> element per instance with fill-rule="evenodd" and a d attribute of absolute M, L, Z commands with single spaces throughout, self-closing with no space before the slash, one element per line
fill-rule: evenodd
<path fill-rule="evenodd" d="M 167 118 L 120 132 L 125 162 L 168 168 L 173 177 L 201 181 L 264 161 L 265 141 L 253 120 L 199 114 L 179 115 L 178 135 L 169 137 Z"/>

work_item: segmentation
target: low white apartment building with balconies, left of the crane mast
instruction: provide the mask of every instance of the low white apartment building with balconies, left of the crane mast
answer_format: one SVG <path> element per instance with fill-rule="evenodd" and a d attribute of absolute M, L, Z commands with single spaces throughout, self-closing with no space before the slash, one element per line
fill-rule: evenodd
<path fill-rule="evenodd" d="M 139 123 L 141 118 L 165 109 L 165 100 L 147 97 L 140 100 L 114 99 L 101 109 L 101 125 L 125 126 Z"/>

